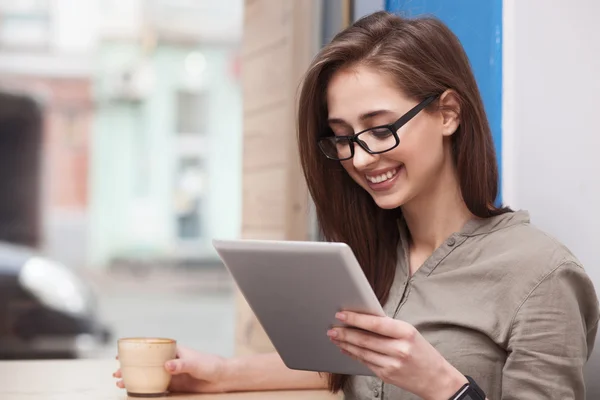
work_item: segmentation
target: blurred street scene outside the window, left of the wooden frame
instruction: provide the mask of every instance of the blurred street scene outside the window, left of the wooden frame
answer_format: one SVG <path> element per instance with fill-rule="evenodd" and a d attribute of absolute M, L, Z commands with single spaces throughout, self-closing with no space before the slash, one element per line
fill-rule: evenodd
<path fill-rule="evenodd" d="M 114 356 L 130 335 L 232 353 L 211 240 L 241 225 L 242 15 L 243 0 L 0 2 L 0 239 L 43 255 L 22 283 L 70 316 L 0 305 L 6 357 Z"/>

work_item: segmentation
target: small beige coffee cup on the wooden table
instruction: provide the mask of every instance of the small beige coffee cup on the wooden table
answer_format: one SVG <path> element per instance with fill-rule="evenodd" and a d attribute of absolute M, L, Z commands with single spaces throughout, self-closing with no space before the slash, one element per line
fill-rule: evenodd
<path fill-rule="evenodd" d="M 131 397 L 164 396 L 171 381 L 165 363 L 177 353 L 177 342 L 164 338 L 123 338 L 118 341 L 121 375 Z"/>

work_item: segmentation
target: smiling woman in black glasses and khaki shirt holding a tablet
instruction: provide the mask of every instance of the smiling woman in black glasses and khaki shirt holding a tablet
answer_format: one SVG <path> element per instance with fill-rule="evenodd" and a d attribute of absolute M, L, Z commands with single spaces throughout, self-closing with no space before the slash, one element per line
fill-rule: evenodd
<path fill-rule="evenodd" d="M 594 288 L 526 212 L 494 204 L 490 128 L 446 26 L 380 12 L 337 35 L 307 72 L 298 133 L 323 234 L 352 247 L 388 315 L 342 313 L 361 329 L 327 334 L 377 377 L 180 349 L 166 365 L 172 390 L 329 387 L 348 399 L 445 400 L 469 376 L 490 400 L 584 399 Z"/>

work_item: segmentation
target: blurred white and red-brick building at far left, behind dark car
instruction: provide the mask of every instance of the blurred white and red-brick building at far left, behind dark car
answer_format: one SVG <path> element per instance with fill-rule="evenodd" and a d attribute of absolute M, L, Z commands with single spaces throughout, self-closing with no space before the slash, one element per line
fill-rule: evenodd
<path fill-rule="evenodd" d="M 93 118 L 93 37 L 81 23 L 91 15 L 84 3 L 0 2 L 0 88 L 30 96 L 43 113 L 38 244 L 79 263 L 87 247 Z"/>

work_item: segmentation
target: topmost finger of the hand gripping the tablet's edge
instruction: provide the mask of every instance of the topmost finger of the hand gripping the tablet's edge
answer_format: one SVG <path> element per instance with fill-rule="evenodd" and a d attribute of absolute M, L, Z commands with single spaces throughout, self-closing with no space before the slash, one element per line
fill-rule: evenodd
<path fill-rule="evenodd" d="M 335 317 L 347 325 L 395 339 L 412 339 L 416 333 L 416 329 L 412 325 L 388 317 L 349 311 L 339 312 Z"/>

